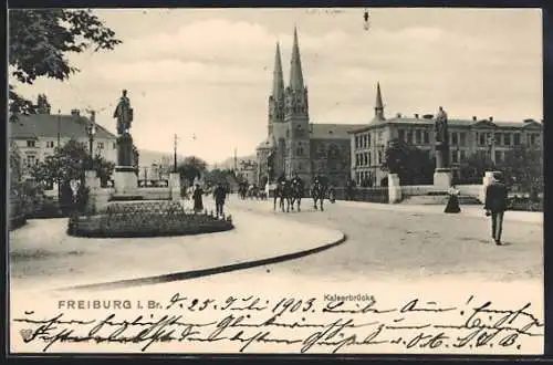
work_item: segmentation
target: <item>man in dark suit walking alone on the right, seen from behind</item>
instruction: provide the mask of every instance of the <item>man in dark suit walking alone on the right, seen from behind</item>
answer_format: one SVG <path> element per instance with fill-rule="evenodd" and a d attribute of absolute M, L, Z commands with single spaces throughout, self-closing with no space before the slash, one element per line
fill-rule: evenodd
<path fill-rule="evenodd" d="M 491 236 L 495 244 L 501 246 L 501 232 L 503 230 L 503 215 L 508 205 L 507 185 L 503 176 L 494 173 L 491 184 L 486 188 L 486 216 L 491 216 Z"/>

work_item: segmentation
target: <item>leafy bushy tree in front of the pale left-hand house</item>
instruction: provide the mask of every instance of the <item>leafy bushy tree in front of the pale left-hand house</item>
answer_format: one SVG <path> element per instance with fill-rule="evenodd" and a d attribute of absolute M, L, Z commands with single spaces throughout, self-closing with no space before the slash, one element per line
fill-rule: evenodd
<path fill-rule="evenodd" d="M 62 185 L 69 184 L 71 180 L 83 180 L 83 171 L 90 160 L 86 146 L 71 139 L 62 147 L 56 148 L 53 156 L 49 156 L 44 161 L 33 166 L 30 173 L 35 181 L 48 185 L 55 181 L 60 181 Z M 114 168 L 113 163 L 101 156 L 92 158 L 92 169 L 96 170 L 103 184 L 111 178 Z"/>

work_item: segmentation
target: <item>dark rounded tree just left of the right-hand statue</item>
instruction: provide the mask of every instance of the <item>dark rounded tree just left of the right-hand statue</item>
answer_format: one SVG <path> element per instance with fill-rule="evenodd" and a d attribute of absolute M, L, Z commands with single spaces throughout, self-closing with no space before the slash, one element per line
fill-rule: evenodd
<path fill-rule="evenodd" d="M 382 168 L 397 174 L 403 185 L 418 185 L 432 180 L 435 166 L 435 159 L 428 152 L 396 139 L 386 148 Z"/>

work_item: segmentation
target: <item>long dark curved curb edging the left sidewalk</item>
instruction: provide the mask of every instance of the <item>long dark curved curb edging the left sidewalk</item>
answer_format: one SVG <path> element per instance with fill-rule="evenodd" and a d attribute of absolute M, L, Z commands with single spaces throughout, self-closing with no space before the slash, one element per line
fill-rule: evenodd
<path fill-rule="evenodd" d="M 123 288 L 129 288 L 129 286 L 153 285 L 153 284 L 167 283 L 167 282 L 173 282 L 173 281 L 190 280 L 190 279 L 197 279 L 197 278 L 202 278 L 202 277 L 210 277 L 210 275 L 216 275 L 216 274 L 220 274 L 220 273 L 227 273 L 227 272 L 232 272 L 232 271 L 238 271 L 238 270 L 262 267 L 265 264 L 272 264 L 272 263 L 278 263 L 278 262 L 283 262 L 283 261 L 289 261 L 289 260 L 295 260 L 295 259 L 300 259 L 300 258 L 303 258 L 303 257 L 306 257 L 310 254 L 314 254 L 314 253 L 319 253 L 319 252 L 328 250 L 333 247 L 336 247 L 336 246 L 344 243 L 347 240 L 347 236 L 342 231 L 340 231 L 340 233 L 342 234 L 342 237 L 340 239 L 331 242 L 331 243 L 326 243 L 324 246 L 320 246 L 320 247 L 316 247 L 314 249 L 298 251 L 298 252 L 293 252 L 293 253 L 285 253 L 285 254 L 272 257 L 269 259 L 246 261 L 246 262 L 233 263 L 233 264 L 229 264 L 229 265 L 201 269 L 201 270 L 194 270 L 194 271 L 176 272 L 176 273 L 169 273 L 169 274 L 163 274 L 163 275 L 139 278 L 139 279 L 117 280 L 117 281 L 97 283 L 97 284 L 76 285 L 76 286 L 58 289 L 58 291 L 112 290 L 112 289 L 123 289 Z"/>

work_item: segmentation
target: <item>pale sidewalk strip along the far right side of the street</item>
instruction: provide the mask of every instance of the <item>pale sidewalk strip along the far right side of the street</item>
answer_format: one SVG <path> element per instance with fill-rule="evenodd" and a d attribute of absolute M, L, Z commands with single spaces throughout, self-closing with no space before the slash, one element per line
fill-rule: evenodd
<path fill-rule="evenodd" d="M 347 200 L 336 200 L 336 204 L 352 208 L 362 208 L 372 210 L 396 210 L 405 212 L 420 212 L 420 213 L 436 213 L 436 215 L 444 215 L 444 209 L 445 209 L 445 206 L 377 204 L 377 202 L 347 201 Z M 461 212 L 459 215 L 467 217 L 486 218 L 483 206 L 461 205 Z M 543 225 L 543 212 L 509 210 L 505 212 L 504 220 Z"/>

